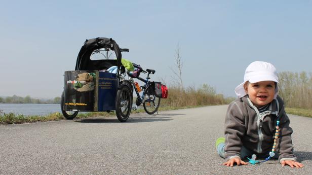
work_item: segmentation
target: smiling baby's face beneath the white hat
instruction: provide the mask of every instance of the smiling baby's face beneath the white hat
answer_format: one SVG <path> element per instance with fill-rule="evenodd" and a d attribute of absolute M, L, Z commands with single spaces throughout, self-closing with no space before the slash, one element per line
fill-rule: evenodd
<path fill-rule="evenodd" d="M 262 107 L 265 104 L 270 103 L 274 99 L 275 95 L 275 82 L 263 81 L 257 83 L 247 83 L 244 85 L 244 89 L 248 94 L 251 102 L 256 107 Z"/>

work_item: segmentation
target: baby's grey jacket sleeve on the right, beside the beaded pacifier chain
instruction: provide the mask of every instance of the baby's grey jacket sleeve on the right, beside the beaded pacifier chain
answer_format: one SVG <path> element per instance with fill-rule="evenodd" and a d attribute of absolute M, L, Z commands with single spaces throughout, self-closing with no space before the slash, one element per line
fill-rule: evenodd
<path fill-rule="evenodd" d="M 285 112 L 285 107 L 283 101 L 280 102 L 281 109 L 280 115 L 280 136 L 278 138 L 277 152 L 280 153 L 279 161 L 283 160 L 296 160 L 296 156 L 293 154 L 293 144 L 291 139 L 291 134 L 293 132 L 292 128 L 289 126 L 289 118 Z"/>

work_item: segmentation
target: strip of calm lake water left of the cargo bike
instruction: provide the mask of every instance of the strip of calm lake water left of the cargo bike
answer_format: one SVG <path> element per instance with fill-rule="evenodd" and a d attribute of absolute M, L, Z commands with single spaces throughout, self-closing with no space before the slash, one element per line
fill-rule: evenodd
<path fill-rule="evenodd" d="M 15 104 L 0 103 L 0 110 L 4 113 L 14 113 L 23 115 L 47 115 L 50 113 L 61 113 L 60 104 Z"/>

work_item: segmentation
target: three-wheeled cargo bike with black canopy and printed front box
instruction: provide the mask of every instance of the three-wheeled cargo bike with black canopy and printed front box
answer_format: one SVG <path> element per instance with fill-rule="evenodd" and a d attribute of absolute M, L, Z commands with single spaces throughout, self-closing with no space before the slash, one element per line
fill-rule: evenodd
<path fill-rule="evenodd" d="M 161 96 L 155 96 L 154 82 L 149 81 L 149 74 L 154 74 L 155 71 L 144 71 L 142 67 L 134 64 L 137 75 L 141 72 L 147 73 L 147 78 L 144 80 L 134 76 L 123 66 L 122 52 L 129 52 L 129 49 L 120 48 L 112 39 L 86 40 L 77 56 L 75 70 L 64 73 L 61 111 L 66 119 L 75 118 L 79 112 L 115 111 L 118 120 L 125 122 L 132 109 L 134 90 L 138 96 L 137 106 L 143 103 L 145 111 L 153 108 L 148 114 L 157 112 Z M 94 59 L 93 56 L 97 54 L 105 59 Z M 111 56 L 113 59 L 109 59 Z M 128 80 L 125 79 L 126 73 L 129 76 Z M 136 88 L 134 78 L 143 81 L 145 85 L 140 89 Z M 143 91 L 143 94 L 140 95 L 138 90 Z M 136 110 L 137 107 L 133 109 Z"/>

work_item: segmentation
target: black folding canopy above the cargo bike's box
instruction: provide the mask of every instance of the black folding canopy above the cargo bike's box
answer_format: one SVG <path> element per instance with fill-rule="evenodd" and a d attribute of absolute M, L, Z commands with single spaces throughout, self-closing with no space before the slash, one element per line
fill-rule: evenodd
<path fill-rule="evenodd" d="M 117 59 L 91 60 L 90 56 L 96 49 L 110 49 L 116 54 Z M 96 71 L 107 69 L 113 65 L 118 67 L 118 76 L 121 66 L 122 53 L 118 44 L 108 38 L 95 38 L 86 40 L 77 57 L 75 71 Z"/>

